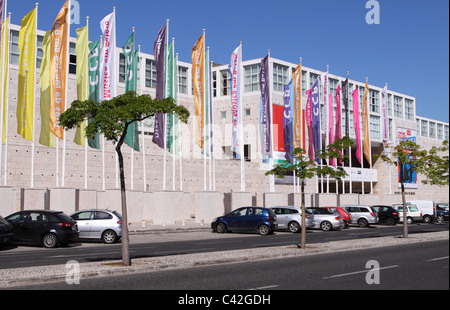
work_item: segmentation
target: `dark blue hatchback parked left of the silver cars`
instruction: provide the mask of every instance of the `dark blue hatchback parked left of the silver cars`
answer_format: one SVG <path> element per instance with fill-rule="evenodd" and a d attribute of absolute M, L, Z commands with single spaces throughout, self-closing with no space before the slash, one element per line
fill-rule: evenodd
<path fill-rule="evenodd" d="M 277 226 L 277 216 L 272 209 L 262 207 L 242 207 L 215 218 L 211 223 L 213 231 L 218 233 L 256 231 L 260 235 L 273 233 Z"/>

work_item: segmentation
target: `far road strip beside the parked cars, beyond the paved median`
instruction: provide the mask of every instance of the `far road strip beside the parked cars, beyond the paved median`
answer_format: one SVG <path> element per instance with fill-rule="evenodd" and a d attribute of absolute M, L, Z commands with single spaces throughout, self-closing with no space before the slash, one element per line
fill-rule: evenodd
<path fill-rule="evenodd" d="M 409 233 L 448 231 L 449 224 L 410 225 Z M 340 231 L 307 232 L 308 244 L 395 236 L 402 234 L 402 226 L 377 225 L 370 228 L 351 227 Z M 196 233 L 141 234 L 131 236 L 132 258 L 192 254 L 201 252 L 231 251 L 247 248 L 293 245 L 300 241 L 300 234 L 277 232 L 270 236 L 255 234 L 217 234 L 210 230 Z M 80 263 L 121 259 L 121 245 L 105 245 L 96 242 L 77 243 L 73 246 L 44 249 L 37 246 L 19 246 L 0 249 L 0 269 L 65 264 L 68 260 Z"/>

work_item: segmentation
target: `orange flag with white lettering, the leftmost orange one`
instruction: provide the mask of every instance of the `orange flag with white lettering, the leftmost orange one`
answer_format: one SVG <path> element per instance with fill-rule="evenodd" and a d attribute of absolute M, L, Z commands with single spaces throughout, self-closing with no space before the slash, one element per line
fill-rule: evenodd
<path fill-rule="evenodd" d="M 67 74 L 70 36 L 70 0 L 63 5 L 50 34 L 50 131 L 59 139 L 64 139 L 64 128 L 59 123 L 59 115 L 66 110 Z"/>

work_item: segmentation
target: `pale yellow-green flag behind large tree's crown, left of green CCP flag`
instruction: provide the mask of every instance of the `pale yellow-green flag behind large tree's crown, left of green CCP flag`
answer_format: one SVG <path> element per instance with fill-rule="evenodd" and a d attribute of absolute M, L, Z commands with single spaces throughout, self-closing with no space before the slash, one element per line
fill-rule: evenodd
<path fill-rule="evenodd" d="M 85 101 L 89 99 L 88 81 L 88 55 L 89 55 L 89 28 L 85 26 L 77 29 L 77 44 L 75 46 L 75 54 L 77 55 L 77 99 Z M 75 133 L 76 144 L 86 146 L 86 121 L 77 126 Z"/>

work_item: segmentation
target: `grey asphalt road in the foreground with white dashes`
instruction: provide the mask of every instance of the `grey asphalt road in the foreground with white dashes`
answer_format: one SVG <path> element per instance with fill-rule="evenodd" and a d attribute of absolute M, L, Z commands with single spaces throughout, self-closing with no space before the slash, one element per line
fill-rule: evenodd
<path fill-rule="evenodd" d="M 266 298 L 269 296 L 269 300 L 271 290 L 448 290 L 448 253 L 448 240 L 444 240 L 420 245 L 406 244 L 295 258 L 83 279 L 79 285 L 68 286 L 65 282 L 50 283 L 28 286 L 27 289 L 173 290 L 169 293 L 169 298 L 165 300 L 167 306 L 176 304 L 186 295 L 186 292 L 177 292 L 177 290 L 208 290 L 200 294 L 214 296 L 211 299 L 212 305 L 229 302 L 234 290 L 239 291 L 240 294 L 243 294 L 244 290 L 264 290 L 257 293 L 257 296 L 264 294 Z M 375 261 L 379 266 L 367 266 L 369 261 Z M 220 291 L 213 293 L 210 292 L 211 290 Z M 198 295 L 193 292 L 189 294 Z M 225 294 L 228 295 L 226 297 L 228 299 L 224 299 Z M 281 302 L 277 300 L 280 296 L 286 297 L 286 295 L 274 294 L 270 301 L 272 305 Z"/>

